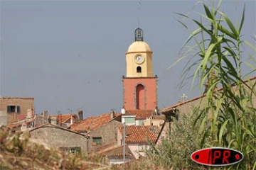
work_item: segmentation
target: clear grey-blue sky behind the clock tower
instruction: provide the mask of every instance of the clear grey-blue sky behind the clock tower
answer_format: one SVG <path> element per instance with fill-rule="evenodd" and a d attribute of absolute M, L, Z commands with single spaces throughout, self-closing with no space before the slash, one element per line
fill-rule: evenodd
<path fill-rule="evenodd" d="M 223 1 L 220 9 L 240 21 L 244 2 Z M 87 118 L 112 108 L 119 112 L 125 52 L 139 19 L 153 50 L 159 108 L 181 101 L 182 94 L 196 97 L 190 81 L 181 90 L 177 86 L 186 61 L 166 70 L 189 35 L 174 12 L 185 14 L 195 3 L 141 1 L 138 8 L 138 1 L 1 1 L 0 95 L 34 97 L 36 113 L 81 108 Z M 256 2 L 246 4 L 242 34 L 250 39 L 256 33 Z"/>

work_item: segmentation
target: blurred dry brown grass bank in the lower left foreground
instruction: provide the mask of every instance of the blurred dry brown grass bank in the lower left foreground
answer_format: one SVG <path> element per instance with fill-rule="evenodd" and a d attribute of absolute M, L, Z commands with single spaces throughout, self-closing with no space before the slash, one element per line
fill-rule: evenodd
<path fill-rule="evenodd" d="M 111 169 L 97 155 L 65 154 L 29 141 L 28 132 L 15 134 L 0 127 L 0 169 Z"/>

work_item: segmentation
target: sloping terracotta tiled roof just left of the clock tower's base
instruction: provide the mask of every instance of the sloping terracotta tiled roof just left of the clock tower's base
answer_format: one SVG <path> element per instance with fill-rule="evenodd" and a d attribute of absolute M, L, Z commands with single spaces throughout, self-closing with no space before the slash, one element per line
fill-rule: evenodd
<path fill-rule="evenodd" d="M 114 115 L 114 118 L 117 118 L 117 116 L 121 115 L 121 113 L 114 113 Z M 113 120 L 110 118 L 110 113 L 105 113 L 99 116 L 92 116 L 71 125 L 70 130 L 75 132 L 85 132 L 88 130 L 92 131 L 110 122 L 110 120 Z"/>

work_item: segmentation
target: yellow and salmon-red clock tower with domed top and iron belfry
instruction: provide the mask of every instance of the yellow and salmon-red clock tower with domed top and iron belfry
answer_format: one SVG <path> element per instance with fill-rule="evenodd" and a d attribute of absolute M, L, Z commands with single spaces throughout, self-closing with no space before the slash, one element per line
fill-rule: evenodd
<path fill-rule="evenodd" d="M 152 53 L 144 42 L 142 29 L 137 28 L 135 41 L 125 53 L 127 76 L 122 79 L 125 110 L 153 110 L 157 106 L 157 77 L 153 76 Z"/>

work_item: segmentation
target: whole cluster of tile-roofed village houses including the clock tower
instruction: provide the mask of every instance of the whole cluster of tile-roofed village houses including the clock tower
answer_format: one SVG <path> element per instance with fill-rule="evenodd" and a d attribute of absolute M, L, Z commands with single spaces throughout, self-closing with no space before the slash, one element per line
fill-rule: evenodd
<path fill-rule="evenodd" d="M 125 54 L 127 73 L 122 77 L 123 105 L 119 113 L 110 111 L 89 118 L 84 118 L 82 110 L 70 114 L 50 115 L 48 111 L 36 114 L 34 98 L 1 97 L 0 125 L 17 133 L 28 131 L 34 142 L 70 154 L 100 154 L 110 164 L 122 164 L 124 158 L 129 162 L 145 157 L 150 143 L 159 145 L 168 135 L 170 124 L 178 120 L 179 113 L 191 113 L 193 106 L 206 101 L 204 96 L 186 100 L 183 95 L 183 101 L 174 106 L 158 108 L 153 52 L 144 42 L 141 28 L 135 30 L 135 41 Z M 256 77 L 250 81 L 255 82 Z M 255 96 L 252 101 L 256 103 Z"/>

